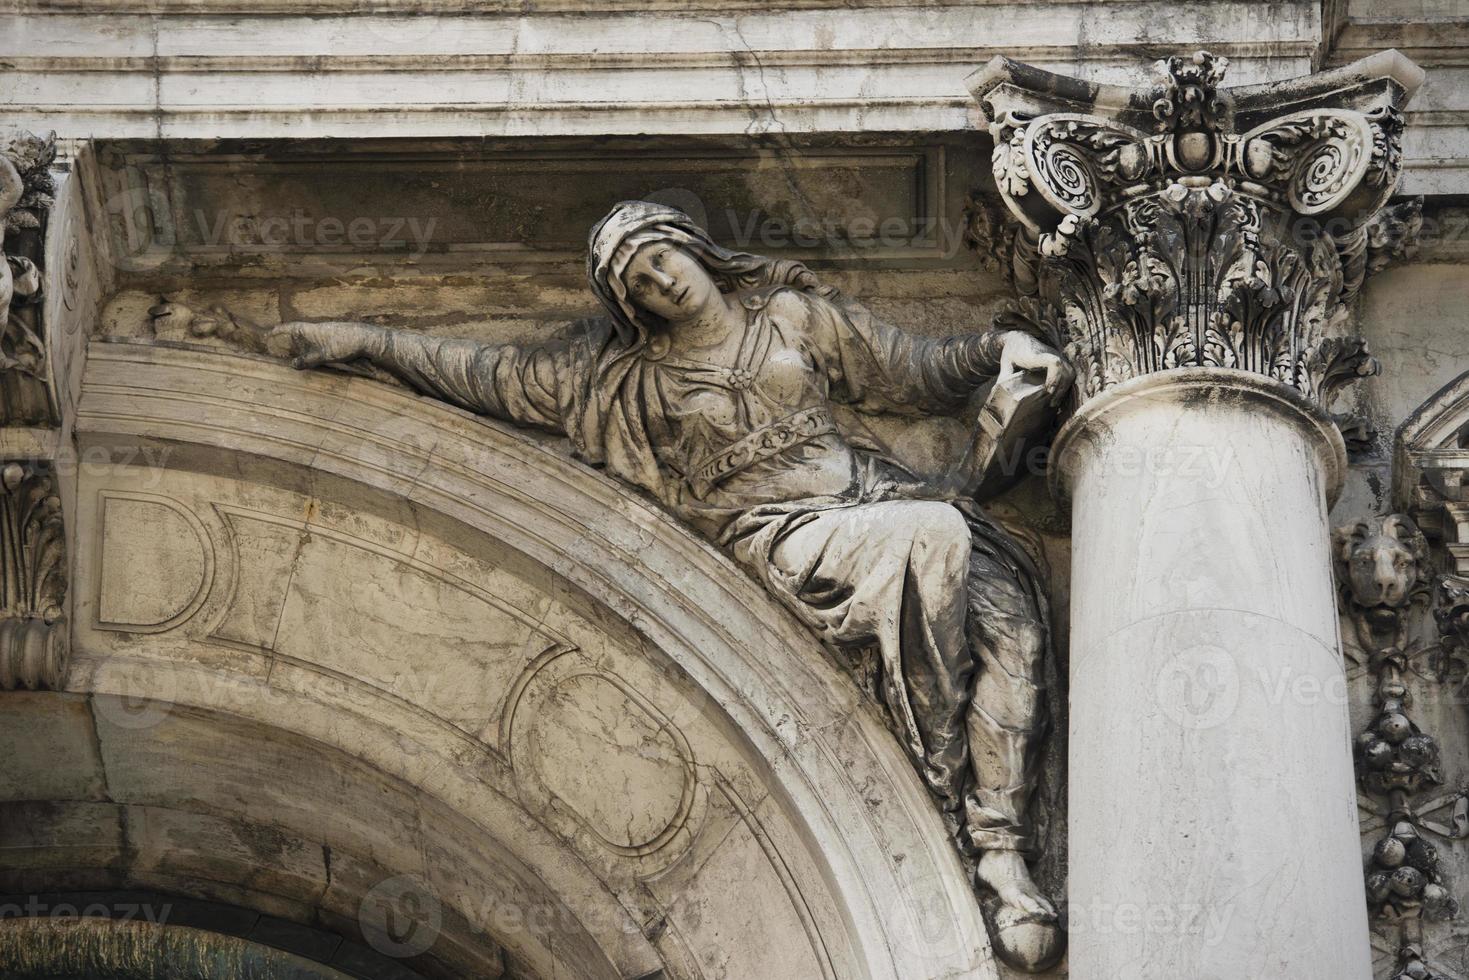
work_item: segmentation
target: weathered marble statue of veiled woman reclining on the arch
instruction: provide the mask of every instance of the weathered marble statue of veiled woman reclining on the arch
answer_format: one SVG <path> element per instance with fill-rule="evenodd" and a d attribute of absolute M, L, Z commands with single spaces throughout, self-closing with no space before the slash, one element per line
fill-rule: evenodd
<path fill-rule="evenodd" d="M 1025 334 L 905 334 L 802 264 L 733 253 L 686 215 L 618 204 L 591 235 L 605 317 L 571 339 L 482 344 L 366 323 L 285 323 L 297 367 L 370 361 L 413 388 L 566 433 L 726 548 L 834 648 L 876 648 L 878 689 L 961 851 L 993 892 L 1000 955 L 1050 965 L 1056 911 L 1028 815 L 1044 730 L 1047 607 L 1024 551 L 972 500 L 859 448 L 836 403 L 955 413 L 997 373 L 1065 360 Z"/>

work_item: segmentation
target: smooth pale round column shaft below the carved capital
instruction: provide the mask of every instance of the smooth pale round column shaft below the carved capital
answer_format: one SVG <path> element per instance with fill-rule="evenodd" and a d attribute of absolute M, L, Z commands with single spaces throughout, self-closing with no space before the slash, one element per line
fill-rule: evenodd
<path fill-rule="evenodd" d="M 1188 367 L 1087 401 L 1053 460 L 1072 511 L 1071 976 L 1369 980 L 1337 428 L 1269 378 Z"/>

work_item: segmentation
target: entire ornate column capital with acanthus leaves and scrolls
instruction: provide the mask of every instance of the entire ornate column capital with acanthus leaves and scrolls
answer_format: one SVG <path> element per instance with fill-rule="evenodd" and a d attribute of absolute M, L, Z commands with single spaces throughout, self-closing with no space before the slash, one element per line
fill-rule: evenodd
<path fill-rule="evenodd" d="M 1266 375 L 1322 407 L 1374 373 L 1347 335 L 1366 272 L 1413 228 L 1375 220 L 1421 72 L 1396 53 L 1221 90 L 1227 62 L 1161 63 L 1153 93 L 996 59 L 970 79 L 1021 229 L 1009 326 L 1064 348 L 1081 400 L 1172 367 Z"/>

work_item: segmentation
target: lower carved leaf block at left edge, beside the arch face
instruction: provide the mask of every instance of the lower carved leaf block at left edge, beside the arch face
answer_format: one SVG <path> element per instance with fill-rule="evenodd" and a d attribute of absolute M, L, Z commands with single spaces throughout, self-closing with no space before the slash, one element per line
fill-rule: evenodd
<path fill-rule="evenodd" d="M 0 463 L 0 691 L 59 688 L 66 666 L 66 536 L 53 473 Z"/>

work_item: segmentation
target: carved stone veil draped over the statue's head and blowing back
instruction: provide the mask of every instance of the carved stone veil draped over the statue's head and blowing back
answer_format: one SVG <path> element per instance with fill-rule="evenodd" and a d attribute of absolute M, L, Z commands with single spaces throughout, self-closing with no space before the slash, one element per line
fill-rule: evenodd
<path fill-rule="evenodd" d="M 592 228 L 588 239 L 586 276 L 626 347 L 640 347 L 660 323 L 655 314 L 633 304 L 623 282 L 627 263 L 639 248 L 654 241 L 671 241 L 690 253 L 708 269 L 721 292 L 789 285 L 823 297 L 836 294 L 836 289 L 820 285 L 811 270 L 799 262 L 730 251 L 715 244 L 702 228 L 676 207 L 651 201 L 623 201 Z"/>

